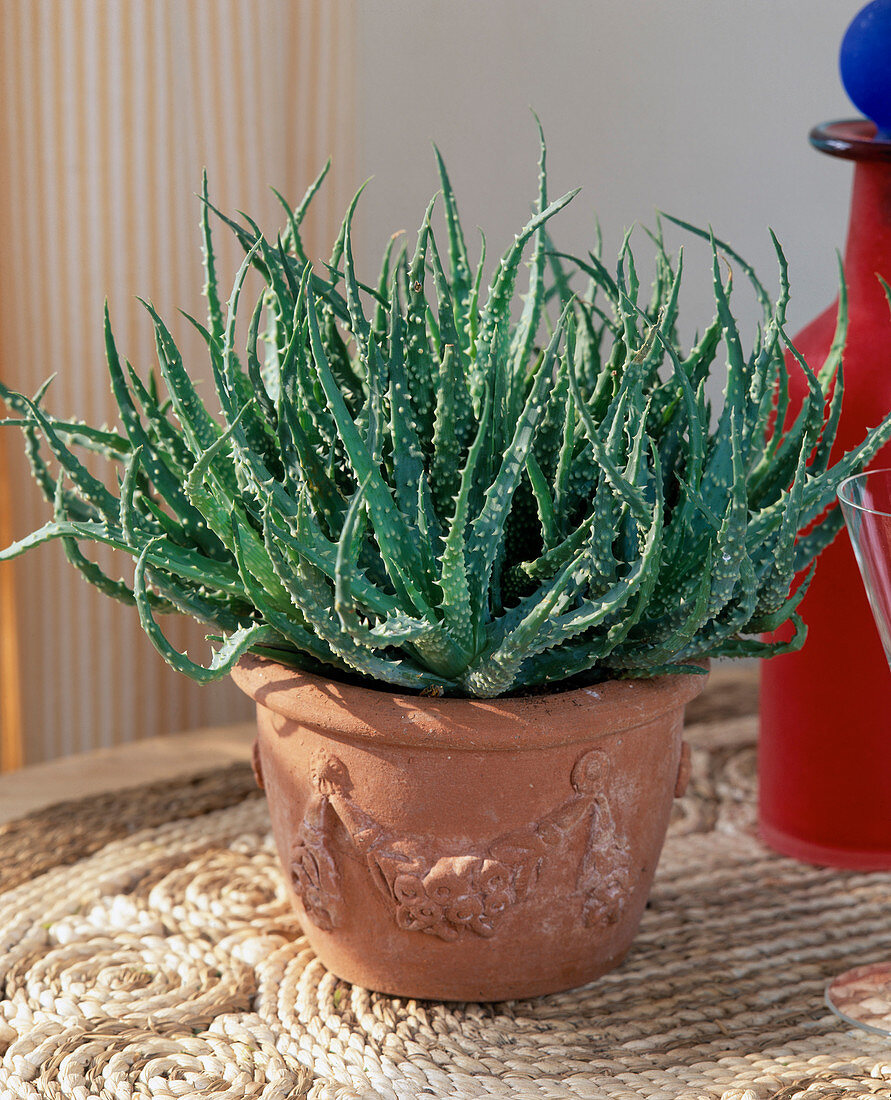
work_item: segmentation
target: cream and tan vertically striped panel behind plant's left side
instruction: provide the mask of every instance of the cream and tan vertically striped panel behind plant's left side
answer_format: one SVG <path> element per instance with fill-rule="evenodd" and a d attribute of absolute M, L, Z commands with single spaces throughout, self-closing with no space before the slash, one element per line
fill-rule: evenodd
<path fill-rule="evenodd" d="M 139 294 L 210 389 L 200 338 L 177 314 L 204 312 L 201 169 L 217 205 L 274 233 L 283 216 L 268 186 L 296 201 L 331 155 L 307 223 L 312 254 L 327 253 L 355 183 L 354 18 L 351 0 L 0 0 L 7 384 L 33 393 L 57 372 L 46 398 L 54 411 L 112 422 L 102 300 L 119 348 L 144 374 L 153 342 Z M 241 257 L 223 233 L 218 270 L 228 282 Z M 6 539 L 3 515 L 21 536 L 48 506 L 26 477 L 18 436 L 4 442 Z M 112 552 L 97 560 L 132 575 Z M 18 678 L 30 761 L 250 714 L 231 684 L 175 675 L 135 613 L 84 584 L 58 546 L 0 573 L 0 690 L 6 698 Z M 3 649 L 16 612 L 18 673 L 14 650 Z M 179 648 L 207 652 L 195 624 L 164 627 Z M 0 708 L 4 728 L 13 712 Z"/>

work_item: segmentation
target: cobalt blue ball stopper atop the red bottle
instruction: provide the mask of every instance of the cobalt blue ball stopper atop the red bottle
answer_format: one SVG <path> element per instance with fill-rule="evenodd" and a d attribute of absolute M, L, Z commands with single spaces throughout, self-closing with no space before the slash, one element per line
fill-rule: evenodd
<path fill-rule="evenodd" d="M 872 0 L 854 16 L 838 67 L 854 106 L 891 136 L 891 0 Z"/>

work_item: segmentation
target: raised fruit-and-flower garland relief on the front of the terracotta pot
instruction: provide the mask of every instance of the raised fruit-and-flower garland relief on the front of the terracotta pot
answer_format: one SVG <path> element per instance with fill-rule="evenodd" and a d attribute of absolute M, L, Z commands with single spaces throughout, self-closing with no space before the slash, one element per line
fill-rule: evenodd
<path fill-rule="evenodd" d="M 570 780 L 572 796 L 538 822 L 495 837 L 484 850 L 455 851 L 446 840 L 382 826 L 353 800 L 343 761 L 318 754 L 293 849 L 294 890 L 319 928 L 338 927 L 343 898 L 336 853 L 344 851 L 346 840 L 349 857 L 367 867 L 400 928 L 444 941 L 492 936 L 503 914 L 535 891 L 548 857 L 574 846 L 583 833 L 575 879 L 583 923 L 614 924 L 628 894 L 630 857 L 609 806 L 606 755 L 585 752 Z"/>

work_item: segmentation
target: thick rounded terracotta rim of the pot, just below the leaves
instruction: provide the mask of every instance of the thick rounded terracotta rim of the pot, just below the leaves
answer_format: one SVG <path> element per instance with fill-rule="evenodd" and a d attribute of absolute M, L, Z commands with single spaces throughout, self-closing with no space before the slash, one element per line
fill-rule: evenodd
<path fill-rule="evenodd" d="M 708 663 L 703 664 L 707 672 Z M 305 728 L 464 751 L 549 748 L 635 729 L 685 706 L 707 680 L 696 673 L 671 674 L 541 695 L 433 697 L 327 680 L 255 653 L 242 657 L 231 676 L 258 707 Z"/>

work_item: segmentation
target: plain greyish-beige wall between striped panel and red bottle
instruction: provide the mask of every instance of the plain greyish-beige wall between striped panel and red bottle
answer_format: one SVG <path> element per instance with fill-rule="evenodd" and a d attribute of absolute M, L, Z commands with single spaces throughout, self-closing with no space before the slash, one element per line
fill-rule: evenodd
<path fill-rule="evenodd" d="M 584 188 L 554 223 L 564 245 L 588 246 L 596 212 L 614 254 L 625 226 L 651 224 L 661 208 L 711 222 L 772 280 L 772 226 L 791 264 L 794 331 L 835 295 L 850 168 L 812 151 L 807 132 L 857 113 L 836 61 L 861 4 L 364 0 L 359 133 L 364 174 L 374 174 L 362 200 L 366 263 L 392 229 L 419 224 L 437 187 L 431 140 L 468 228 L 485 228 L 491 255 L 506 246 L 535 196 L 531 105 L 554 194 Z M 711 294 L 701 266 L 689 283 L 692 329 Z"/>

